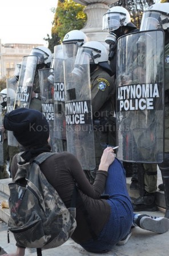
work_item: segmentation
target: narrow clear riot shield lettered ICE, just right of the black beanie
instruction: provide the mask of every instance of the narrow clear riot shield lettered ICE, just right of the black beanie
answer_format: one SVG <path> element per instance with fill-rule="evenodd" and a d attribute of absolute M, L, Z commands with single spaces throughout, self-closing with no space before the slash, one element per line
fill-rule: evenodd
<path fill-rule="evenodd" d="M 39 69 L 39 84 L 41 87 L 42 113 L 49 122 L 50 145 L 53 152 L 57 152 L 54 138 L 54 83 L 50 80 L 53 76 L 53 69 Z"/>

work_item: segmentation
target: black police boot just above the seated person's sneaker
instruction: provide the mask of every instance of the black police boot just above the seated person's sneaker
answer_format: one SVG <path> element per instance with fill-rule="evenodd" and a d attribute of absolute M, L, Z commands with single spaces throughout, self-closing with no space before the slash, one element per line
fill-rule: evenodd
<path fill-rule="evenodd" d="M 157 207 L 155 204 L 156 193 L 148 193 L 144 191 L 143 196 L 132 199 L 132 205 L 134 211 L 156 211 Z"/>

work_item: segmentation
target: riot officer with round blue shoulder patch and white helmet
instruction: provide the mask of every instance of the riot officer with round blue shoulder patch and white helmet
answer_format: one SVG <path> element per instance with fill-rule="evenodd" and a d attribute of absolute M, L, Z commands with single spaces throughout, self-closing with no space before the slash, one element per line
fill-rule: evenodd
<path fill-rule="evenodd" d="M 90 171 L 92 183 L 103 149 L 115 145 L 115 84 L 108 64 L 108 51 L 101 42 L 89 41 L 79 47 L 74 74 L 83 73 L 83 64 L 90 61 L 92 119 L 94 125 L 95 169 Z M 81 64 L 79 68 L 77 65 Z M 80 69 L 81 68 L 81 69 Z M 89 175 L 89 170 L 86 170 Z"/>

